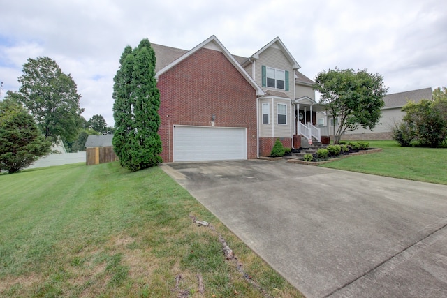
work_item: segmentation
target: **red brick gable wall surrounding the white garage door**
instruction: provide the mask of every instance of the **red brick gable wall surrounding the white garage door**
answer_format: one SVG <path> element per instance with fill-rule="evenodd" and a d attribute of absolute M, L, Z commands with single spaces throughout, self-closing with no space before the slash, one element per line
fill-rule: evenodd
<path fill-rule="evenodd" d="M 173 125 L 247 128 L 247 157 L 256 158 L 256 91 L 222 52 L 202 48 L 159 77 L 163 162 L 173 161 Z"/>

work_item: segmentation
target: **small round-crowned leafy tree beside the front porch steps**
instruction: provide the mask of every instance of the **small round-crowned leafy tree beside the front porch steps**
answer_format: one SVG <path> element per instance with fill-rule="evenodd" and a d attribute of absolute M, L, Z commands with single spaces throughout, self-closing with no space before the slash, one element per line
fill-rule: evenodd
<path fill-rule="evenodd" d="M 367 70 L 328 70 L 318 73 L 314 89 L 321 94 L 320 104 L 332 115 L 339 118 L 339 126 L 334 125 L 334 142 L 338 144 L 342 134 L 354 131 L 359 126 L 374 129 L 381 117 L 382 100 L 388 90 L 383 84 L 383 76 L 368 73 Z"/>

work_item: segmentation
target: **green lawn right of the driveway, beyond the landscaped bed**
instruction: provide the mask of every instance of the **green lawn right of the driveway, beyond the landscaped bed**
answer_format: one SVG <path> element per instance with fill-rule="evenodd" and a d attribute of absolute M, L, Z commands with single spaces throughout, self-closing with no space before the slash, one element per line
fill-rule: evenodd
<path fill-rule="evenodd" d="M 400 147 L 395 141 L 369 141 L 375 154 L 351 156 L 322 167 L 447 184 L 447 148 Z"/>

